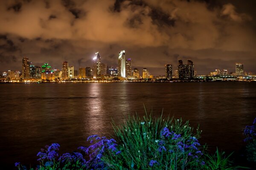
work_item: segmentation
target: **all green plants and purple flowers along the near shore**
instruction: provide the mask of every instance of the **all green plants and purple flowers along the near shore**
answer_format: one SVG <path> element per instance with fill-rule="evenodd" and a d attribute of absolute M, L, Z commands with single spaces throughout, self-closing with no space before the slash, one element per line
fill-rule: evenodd
<path fill-rule="evenodd" d="M 256 162 L 256 119 L 244 130 L 248 161 Z M 198 141 L 201 131 L 193 130 L 189 122 L 172 117 L 143 118 L 129 116 L 126 123 L 113 123 L 114 138 L 93 135 L 88 137 L 89 147 L 77 152 L 59 155 L 60 145 L 53 143 L 38 152 L 40 164 L 30 170 L 238 170 L 230 155 L 218 148 L 215 154 L 207 153 Z M 87 158 L 87 160 L 85 159 Z M 19 170 L 26 170 L 19 162 Z"/>

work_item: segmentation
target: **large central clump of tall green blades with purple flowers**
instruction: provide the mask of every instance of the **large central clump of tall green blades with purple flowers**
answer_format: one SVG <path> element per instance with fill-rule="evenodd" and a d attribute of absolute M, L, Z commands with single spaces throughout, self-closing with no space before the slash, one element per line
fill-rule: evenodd
<path fill-rule="evenodd" d="M 142 119 L 129 116 L 125 124 L 113 123 L 119 154 L 108 154 L 102 160 L 110 169 L 200 169 L 204 149 L 198 142 L 201 131 L 189 122 L 172 117 Z"/>

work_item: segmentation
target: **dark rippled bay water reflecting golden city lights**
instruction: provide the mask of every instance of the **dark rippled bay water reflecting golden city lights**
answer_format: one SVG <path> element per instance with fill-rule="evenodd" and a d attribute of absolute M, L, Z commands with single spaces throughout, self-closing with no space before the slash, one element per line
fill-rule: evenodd
<path fill-rule="evenodd" d="M 203 130 L 209 149 L 239 151 L 242 130 L 256 117 L 254 82 L 0 84 L 0 164 L 35 164 L 46 144 L 71 152 L 92 134 L 113 135 L 111 119 L 174 115 Z M 7 168 L 6 168 L 7 169 Z"/>

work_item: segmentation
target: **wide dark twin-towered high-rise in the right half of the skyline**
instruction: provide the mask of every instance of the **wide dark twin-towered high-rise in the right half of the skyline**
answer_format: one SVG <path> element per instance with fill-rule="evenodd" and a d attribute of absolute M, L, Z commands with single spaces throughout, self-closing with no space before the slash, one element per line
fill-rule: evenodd
<path fill-rule="evenodd" d="M 190 59 L 188 60 L 187 65 L 184 65 L 181 59 L 179 60 L 179 65 L 178 65 L 179 79 L 192 79 L 195 76 L 194 72 L 195 72 L 194 64 Z"/>

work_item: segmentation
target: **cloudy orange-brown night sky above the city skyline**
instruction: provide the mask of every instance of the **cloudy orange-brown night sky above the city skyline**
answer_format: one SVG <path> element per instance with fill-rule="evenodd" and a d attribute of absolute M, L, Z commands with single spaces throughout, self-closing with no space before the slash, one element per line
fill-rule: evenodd
<path fill-rule="evenodd" d="M 198 74 L 216 68 L 256 72 L 255 0 L 0 0 L 0 71 L 21 60 L 61 68 L 68 61 L 117 66 L 125 49 L 132 69 L 164 75 L 191 59 Z"/>

